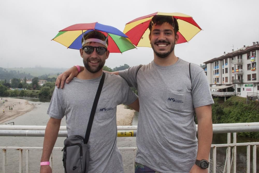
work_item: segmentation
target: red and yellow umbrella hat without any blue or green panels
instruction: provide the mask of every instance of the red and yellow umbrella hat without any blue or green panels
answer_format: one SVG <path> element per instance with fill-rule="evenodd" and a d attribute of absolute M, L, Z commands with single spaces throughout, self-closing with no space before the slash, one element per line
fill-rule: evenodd
<path fill-rule="evenodd" d="M 179 31 L 177 32 L 179 39 L 177 44 L 188 42 L 194 37 L 200 30 L 199 25 L 192 19 L 191 16 L 183 13 L 162 13 L 155 12 L 153 14 L 142 16 L 128 22 L 124 28 L 125 33 L 132 43 L 138 47 L 151 47 L 149 41 L 149 29 L 148 25 L 153 16 L 164 15 L 172 16 L 177 19 L 179 25 Z"/>

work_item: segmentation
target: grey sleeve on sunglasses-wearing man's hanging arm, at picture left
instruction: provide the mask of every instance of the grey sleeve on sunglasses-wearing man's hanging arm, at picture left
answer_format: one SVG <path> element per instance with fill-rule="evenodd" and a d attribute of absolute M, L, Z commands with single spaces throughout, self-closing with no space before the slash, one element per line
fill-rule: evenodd
<path fill-rule="evenodd" d="M 65 115 L 65 110 L 62 107 L 58 90 L 59 89 L 55 87 L 47 114 L 52 118 L 62 119 Z"/>

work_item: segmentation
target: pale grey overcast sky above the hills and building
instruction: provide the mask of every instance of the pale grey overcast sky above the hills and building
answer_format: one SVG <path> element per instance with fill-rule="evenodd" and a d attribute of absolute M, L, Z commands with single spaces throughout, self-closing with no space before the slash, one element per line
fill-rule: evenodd
<path fill-rule="evenodd" d="M 77 23 L 99 22 L 123 31 L 127 22 L 154 12 L 181 12 L 203 29 L 175 55 L 195 64 L 251 46 L 259 41 L 259 1 L 1 1 L 0 67 L 71 67 L 83 65 L 79 50 L 51 41 L 59 30 Z M 153 50 L 139 47 L 111 53 L 106 65 L 148 64 Z"/>

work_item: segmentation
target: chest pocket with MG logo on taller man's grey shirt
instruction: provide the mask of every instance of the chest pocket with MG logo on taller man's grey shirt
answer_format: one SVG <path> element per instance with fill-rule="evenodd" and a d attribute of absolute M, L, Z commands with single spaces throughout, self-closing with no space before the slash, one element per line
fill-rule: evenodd
<path fill-rule="evenodd" d="M 179 89 L 169 91 L 165 94 L 166 99 L 165 109 L 181 112 L 184 109 L 184 103 L 186 98 L 186 89 Z"/>

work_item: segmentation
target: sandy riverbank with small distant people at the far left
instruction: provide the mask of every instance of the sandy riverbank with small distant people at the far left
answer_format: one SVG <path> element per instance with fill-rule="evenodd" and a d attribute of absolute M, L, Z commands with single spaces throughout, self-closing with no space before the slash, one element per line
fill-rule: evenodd
<path fill-rule="evenodd" d="M 12 120 L 20 115 L 23 115 L 26 112 L 31 111 L 34 107 L 33 105 L 29 104 L 27 100 L 15 98 L 7 98 L 7 100 L 7 102 L 0 104 L 0 124 L 4 123 L 5 121 Z M 13 106 L 12 111 L 9 110 L 9 105 L 10 107 Z M 5 114 L 3 114 L 3 109 Z"/>

